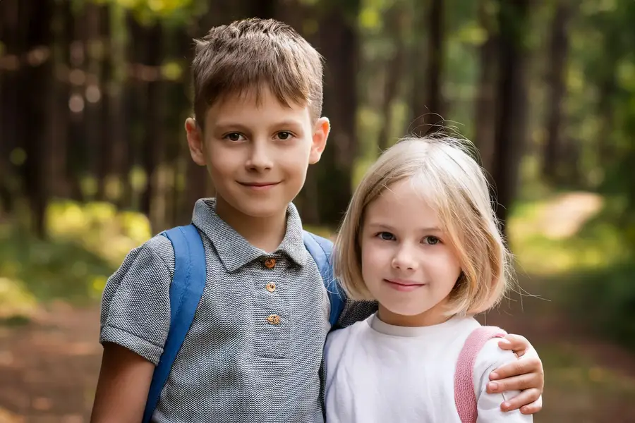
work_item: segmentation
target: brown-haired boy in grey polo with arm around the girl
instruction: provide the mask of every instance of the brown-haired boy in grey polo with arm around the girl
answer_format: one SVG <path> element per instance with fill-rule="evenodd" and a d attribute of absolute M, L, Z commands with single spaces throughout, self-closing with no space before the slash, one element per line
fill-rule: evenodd
<path fill-rule="evenodd" d="M 193 61 L 196 164 L 217 197 L 198 200 L 206 283 L 152 414 L 155 422 L 322 422 L 320 364 L 329 299 L 291 203 L 329 133 L 320 55 L 291 27 L 250 19 L 214 27 Z M 140 422 L 169 331 L 170 240 L 132 250 L 102 301 L 102 370 L 92 422 Z M 348 302 L 338 326 L 375 305 Z M 513 338 L 510 338 L 513 341 Z M 530 350 L 526 340 L 507 349 Z M 513 344 L 513 345 L 512 345 Z M 540 409 L 537 357 L 498 369 L 511 407 Z"/>

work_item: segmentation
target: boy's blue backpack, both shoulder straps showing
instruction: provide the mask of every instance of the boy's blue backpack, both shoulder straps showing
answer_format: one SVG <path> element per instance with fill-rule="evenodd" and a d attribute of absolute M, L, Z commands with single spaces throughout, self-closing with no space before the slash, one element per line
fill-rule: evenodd
<path fill-rule="evenodd" d="M 198 229 L 191 223 L 177 226 L 160 235 L 168 238 L 174 247 L 174 276 L 170 284 L 170 328 L 165 341 L 163 354 L 152 374 L 152 382 L 148 391 L 143 423 L 150 422 L 155 412 L 159 396 L 167 381 L 172 364 L 181 349 L 190 329 L 198 302 L 205 289 L 205 247 L 203 247 Z M 333 276 L 330 262 L 333 243 L 326 238 L 303 231 L 303 241 L 315 264 L 331 303 L 329 323 L 333 328 L 344 309 L 344 294 Z"/>

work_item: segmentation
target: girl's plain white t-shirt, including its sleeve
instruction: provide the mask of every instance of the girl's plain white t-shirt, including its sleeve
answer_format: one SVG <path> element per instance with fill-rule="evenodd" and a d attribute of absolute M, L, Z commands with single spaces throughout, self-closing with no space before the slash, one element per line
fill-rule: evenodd
<path fill-rule="evenodd" d="M 454 371 L 464 342 L 478 326 L 466 317 L 434 326 L 392 326 L 373 315 L 332 332 L 325 347 L 327 423 L 461 423 Z M 490 372 L 516 360 L 498 341 L 488 341 L 474 364 L 477 422 L 533 422 L 519 410 L 500 410 L 518 391 L 485 391 Z"/>

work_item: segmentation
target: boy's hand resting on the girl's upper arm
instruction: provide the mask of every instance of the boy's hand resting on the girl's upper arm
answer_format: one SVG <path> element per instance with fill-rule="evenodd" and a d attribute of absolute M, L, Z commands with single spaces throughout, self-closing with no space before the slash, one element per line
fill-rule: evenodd
<path fill-rule="evenodd" d="M 518 396 L 500 406 L 503 411 L 520 408 L 522 414 L 530 415 L 543 408 L 545 372 L 538 353 L 524 336 L 507 335 L 498 343 L 502 350 L 512 350 L 519 360 L 490 373 L 488 393 L 522 391 Z"/>

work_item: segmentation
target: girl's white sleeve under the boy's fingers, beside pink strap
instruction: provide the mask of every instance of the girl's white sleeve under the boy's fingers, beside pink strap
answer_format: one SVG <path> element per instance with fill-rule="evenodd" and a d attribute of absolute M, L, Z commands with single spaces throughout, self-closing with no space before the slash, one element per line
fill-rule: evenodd
<path fill-rule="evenodd" d="M 524 415 L 520 410 L 504 412 L 500 405 L 504 401 L 517 396 L 520 391 L 506 391 L 504 393 L 488 393 L 487 386 L 490 381 L 490 373 L 498 367 L 518 360 L 516 355 L 509 350 L 502 350 L 498 346 L 499 338 L 494 338 L 485 343 L 474 363 L 474 385 L 478 408 L 477 423 L 531 423 L 532 415 Z"/>

